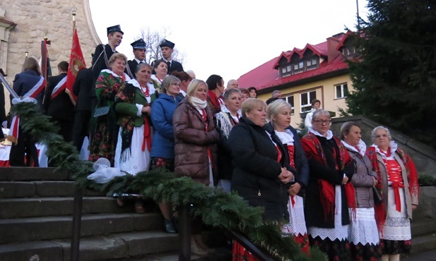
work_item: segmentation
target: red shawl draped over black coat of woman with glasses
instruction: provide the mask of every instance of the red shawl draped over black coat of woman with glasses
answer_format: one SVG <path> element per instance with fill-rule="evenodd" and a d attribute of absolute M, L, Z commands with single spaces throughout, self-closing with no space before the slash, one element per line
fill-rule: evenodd
<path fill-rule="evenodd" d="M 336 169 L 343 169 L 346 164 L 348 164 L 351 159 L 345 147 L 343 147 L 341 140 L 333 137 L 339 150 L 339 162 L 336 162 Z M 301 140 L 302 148 L 305 151 L 307 159 L 315 159 L 322 164 L 326 164 L 326 156 L 322 150 L 321 142 L 317 139 L 317 136 L 313 133 L 307 133 L 305 137 Z M 336 150 L 334 150 L 334 157 L 337 159 Z M 324 219 L 327 217 L 334 217 L 334 207 L 335 207 L 335 190 L 334 185 L 325 181 L 324 179 L 319 179 L 319 198 L 321 200 L 321 205 L 324 210 Z M 353 209 L 355 212 L 356 202 L 355 202 L 355 190 L 352 183 L 348 182 L 344 185 L 346 198 L 348 201 L 348 207 Z"/>

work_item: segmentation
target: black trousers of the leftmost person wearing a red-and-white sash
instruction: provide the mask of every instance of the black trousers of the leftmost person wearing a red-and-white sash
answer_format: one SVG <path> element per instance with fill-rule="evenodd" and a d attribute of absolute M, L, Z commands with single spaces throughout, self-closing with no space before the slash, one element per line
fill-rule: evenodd
<path fill-rule="evenodd" d="M 26 160 L 24 157 L 26 156 Z M 9 165 L 11 166 L 40 166 L 35 140 L 23 129 L 18 129 L 18 143 L 12 144 L 9 153 Z"/>

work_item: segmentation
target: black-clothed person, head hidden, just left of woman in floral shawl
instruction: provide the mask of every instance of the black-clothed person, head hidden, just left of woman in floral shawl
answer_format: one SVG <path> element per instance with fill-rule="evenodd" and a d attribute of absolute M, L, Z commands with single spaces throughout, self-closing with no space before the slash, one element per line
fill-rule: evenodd
<path fill-rule="evenodd" d="M 78 71 L 74 80 L 73 93 L 77 96 L 74 108 L 73 145 L 81 151 L 83 139 L 88 135 L 88 125 L 91 117 L 91 90 L 93 87 L 93 68 Z"/>

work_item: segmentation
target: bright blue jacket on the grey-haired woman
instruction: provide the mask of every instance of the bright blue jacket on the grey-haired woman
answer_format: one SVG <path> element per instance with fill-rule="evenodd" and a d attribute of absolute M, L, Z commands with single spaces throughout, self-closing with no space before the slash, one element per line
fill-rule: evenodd
<path fill-rule="evenodd" d="M 155 128 L 151 140 L 151 157 L 174 159 L 174 128 L 172 115 L 182 98 L 161 93 L 151 105 L 151 121 Z"/>

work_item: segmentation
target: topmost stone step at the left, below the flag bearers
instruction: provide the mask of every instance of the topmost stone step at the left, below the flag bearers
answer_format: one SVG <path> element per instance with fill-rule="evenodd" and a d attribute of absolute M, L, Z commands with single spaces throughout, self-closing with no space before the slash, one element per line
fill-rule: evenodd
<path fill-rule="evenodd" d="M 57 168 L 0 167 L 0 181 L 68 181 L 68 171 Z"/>

